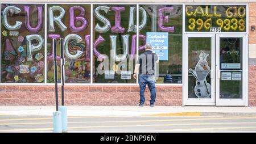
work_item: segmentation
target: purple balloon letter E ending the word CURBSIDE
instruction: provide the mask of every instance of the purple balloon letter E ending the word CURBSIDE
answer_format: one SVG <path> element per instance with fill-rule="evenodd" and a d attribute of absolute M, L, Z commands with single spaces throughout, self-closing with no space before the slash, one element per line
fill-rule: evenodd
<path fill-rule="evenodd" d="M 167 16 L 164 16 L 163 15 L 163 12 L 172 12 L 174 11 L 174 7 L 171 6 L 171 7 L 163 7 L 161 9 L 158 10 L 158 27 L 161 31 L 165 31 L 165 32 L 174 32 L 174 27 L 164 27 L 163 26 L 163 22 L 166 22 L 168 23 L 168 15 Z"/>

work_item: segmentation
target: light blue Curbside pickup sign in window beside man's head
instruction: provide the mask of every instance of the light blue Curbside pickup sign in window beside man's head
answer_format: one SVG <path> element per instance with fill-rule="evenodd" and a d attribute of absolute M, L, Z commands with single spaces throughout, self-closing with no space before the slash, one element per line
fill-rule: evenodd
<path fill-rule="evenodd" d="M 159 61 L 168 61 L 168 32 L 147 32 L 147 44 L 151 44 Z"/>

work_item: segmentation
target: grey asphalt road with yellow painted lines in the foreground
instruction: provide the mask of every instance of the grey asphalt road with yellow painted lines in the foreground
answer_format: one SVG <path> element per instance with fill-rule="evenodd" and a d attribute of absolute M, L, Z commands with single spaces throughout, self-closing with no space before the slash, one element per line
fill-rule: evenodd
<path fill-rule="evenodd" d="M 0 115 L 0 133 L 52 132 L 52 117 Z M 71 132 L 256 132 L 256 117 L 68 117 Z"/>

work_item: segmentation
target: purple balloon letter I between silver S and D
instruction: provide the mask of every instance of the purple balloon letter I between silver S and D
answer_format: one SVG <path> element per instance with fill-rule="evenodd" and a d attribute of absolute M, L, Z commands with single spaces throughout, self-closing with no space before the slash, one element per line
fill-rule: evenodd
<path fill-rule="evenodd" d="M 114 33 L 123 33 L 125 28 L 121 27 L 121 11 L 125 11 L 125 7 L 112 7 L 111 10 L 115 11 L 115 26 L 111 28 Z"/>

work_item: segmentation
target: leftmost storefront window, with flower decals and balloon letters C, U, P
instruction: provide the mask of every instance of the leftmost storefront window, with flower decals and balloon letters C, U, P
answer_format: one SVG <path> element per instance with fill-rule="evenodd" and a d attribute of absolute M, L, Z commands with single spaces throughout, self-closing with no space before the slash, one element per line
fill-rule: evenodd
<path fill-rule="evenodd" d="M 1 4 L 1 82 L 44 83 L 44 4 Z"/>

